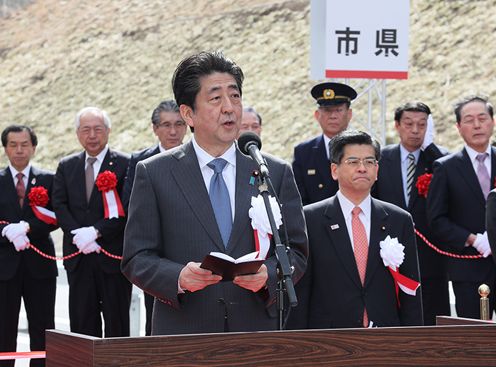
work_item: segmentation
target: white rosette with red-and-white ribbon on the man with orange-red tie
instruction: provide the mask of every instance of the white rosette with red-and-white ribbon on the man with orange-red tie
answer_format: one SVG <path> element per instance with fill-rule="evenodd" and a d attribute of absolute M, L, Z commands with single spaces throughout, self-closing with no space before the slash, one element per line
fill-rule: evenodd
<path fill-rule="evenodd" d="M 379 242 L 379 245 L 381 246 L 380 254 L 382 262 L 384 263 L 384 266 L 389 269 L 389 272 L 394 279 L 396 299 L 398 300 L 399 305 L 398 287 L 406 294 L 415 296 L 420 283 L 400 274 L 399 267 L 403 264 L 403 260 L 405 259 L 405 246 L 399 243 L 396 237 L 391 238 L 388 235 L 383 241 Z"/>

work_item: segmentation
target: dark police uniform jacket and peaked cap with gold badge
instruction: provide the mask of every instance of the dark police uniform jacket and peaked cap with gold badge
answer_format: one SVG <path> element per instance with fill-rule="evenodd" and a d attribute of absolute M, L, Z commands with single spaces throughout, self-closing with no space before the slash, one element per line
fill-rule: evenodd
<path fill-rule="evenodd" d="M 315 85 L 311 94 L 319 107 L 343 103 L 349 105 L 357 96 L 350 86 L 329 82 Z M 293 171 L 303 205 L 326 199 L 338 191 L 338 183 L 330 173 L 330 147 L 326 140 L 322 134 L 294 149 Z"/>

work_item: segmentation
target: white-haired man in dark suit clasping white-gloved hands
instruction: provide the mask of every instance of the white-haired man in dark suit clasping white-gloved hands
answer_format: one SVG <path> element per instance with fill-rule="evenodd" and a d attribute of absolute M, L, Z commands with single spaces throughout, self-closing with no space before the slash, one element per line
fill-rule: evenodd
<path fill-rule="evenodd" d="M 122 214 L 105 215 L 105 206 L 110 214 L 111 202 L 104 202 L 96 185 L 99 173 L 110 171 L 120 196 L 129 158 L 108 147 L 111 121 L 105 111 L 83 108 L 75 125 L 84 151 L 61 159 L 53 184 L 53 207 L 64 231 L 64 255 L 81 252 L 64 261 L 71 331 L 101 337 L 103 316 L 105 337 L 129 336 L 131 283 L 122 275 L 120 261 L 101 252 L 122 254 L 126 221 Z"/>

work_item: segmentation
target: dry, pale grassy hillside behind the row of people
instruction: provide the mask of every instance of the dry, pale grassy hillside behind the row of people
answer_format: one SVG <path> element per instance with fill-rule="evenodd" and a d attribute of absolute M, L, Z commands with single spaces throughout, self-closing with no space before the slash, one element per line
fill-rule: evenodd
<path fill-rule="evenodd" d="M 436 141 L 459 149 L 453 103 L 469 93 L 496 102 L 496 0 L 410 6 L 409 79 L 387 82 L 387 141 L 397 141 L 394 108 L 419 99 L 433 110 Z M 80 150 L 73 118 L 87 105 L 109 112 L 113 148 L 153 144 L 151 111 L 173 97 L 178 62 L 201 50 L 222 49 L 242 67 L 244 104 L 264 119 L 264 150 L 291 160 L 294 145 L 319 133 L 309 93 L 309 0 L 34 0 L 17 9 L 4 1 L 2 10 L 0 129 L 33 126 L 40 166 L 54 170 Z M 353 109 L 359 128 L 366 101 Z"/>

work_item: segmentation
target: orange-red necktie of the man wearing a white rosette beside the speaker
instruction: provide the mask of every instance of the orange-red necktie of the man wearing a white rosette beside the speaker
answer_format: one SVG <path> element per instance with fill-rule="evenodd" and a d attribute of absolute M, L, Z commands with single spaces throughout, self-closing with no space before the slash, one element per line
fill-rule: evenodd
<path fill-rule="evenodd" d="M 358 274 L 360 274 L 360 280 L 362 285 L 365 284 L 365 273 L 367 271 L 367 258 L 369 254 L 369 245 L 367 239 L 367 232 L 365 231 L 365 226 L 360 220 L 360 213 L 362 209 L 356 206 L 351 211 L 351 230 L 353 232 L 353 252 L 355 253 L 355 261 L 357 263 Z M 367 315 L 367 309 L 363 310 L 363 327 L 369 326 L 369 318 Z"/>

